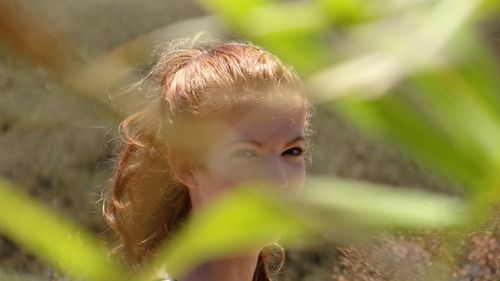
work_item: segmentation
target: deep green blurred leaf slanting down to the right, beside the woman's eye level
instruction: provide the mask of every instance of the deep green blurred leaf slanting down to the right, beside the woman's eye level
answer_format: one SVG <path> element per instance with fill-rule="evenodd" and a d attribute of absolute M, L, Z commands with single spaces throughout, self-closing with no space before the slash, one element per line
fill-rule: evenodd
<path fill-rule="evenodd" d="M 364 101 L 344 100 L 334 106 L 361 128 L 399 143 L 417 159 L 465 182 L 470 183 L 483 173 L 473 155 L 463 153 L 397 94 Z"/>

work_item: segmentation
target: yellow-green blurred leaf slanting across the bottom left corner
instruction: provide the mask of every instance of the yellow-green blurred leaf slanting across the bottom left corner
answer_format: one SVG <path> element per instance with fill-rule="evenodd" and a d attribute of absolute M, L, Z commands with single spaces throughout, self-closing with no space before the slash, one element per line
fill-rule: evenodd
<path fill-rule="evenodd" d="M 16 189 L 0 179 L 0 231 L 9 239 L 75 279 L 127 280 L 92 235 Z"/>

